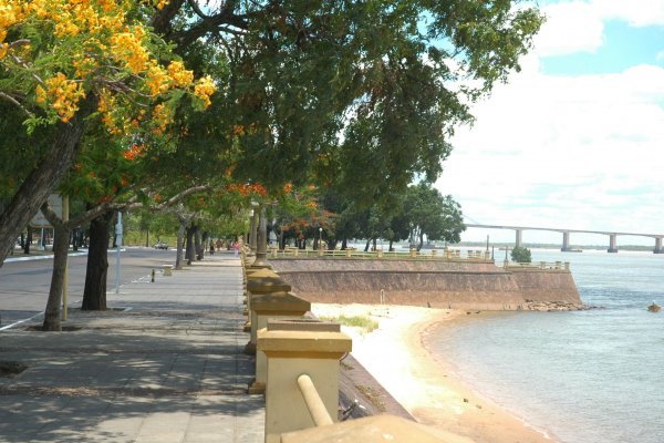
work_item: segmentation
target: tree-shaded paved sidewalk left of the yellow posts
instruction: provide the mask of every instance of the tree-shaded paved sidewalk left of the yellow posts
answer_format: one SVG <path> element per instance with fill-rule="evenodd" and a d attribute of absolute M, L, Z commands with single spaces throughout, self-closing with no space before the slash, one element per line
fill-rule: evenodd
<path fill-rule="evenodd" d="M 239 259 L 218 254 L 107 293 L 128 310 L 70 309 L 76 330 L 0 332 L 0 362 L 28 365 L 0 377 L 0 442 L 262 442 L 241 296 Z"/>

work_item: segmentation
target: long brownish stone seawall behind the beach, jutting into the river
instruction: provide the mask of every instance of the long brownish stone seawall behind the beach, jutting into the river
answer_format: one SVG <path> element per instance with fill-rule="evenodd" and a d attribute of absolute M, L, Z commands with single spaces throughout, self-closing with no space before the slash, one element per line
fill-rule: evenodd
<path fill-rule="evenodd" d="M 272 259 L 299 297 L 325 303 L 430 306 L 452 309 L 551 310 L 581 307 L 571 272 L 504 270 L 486 262 Z"/>

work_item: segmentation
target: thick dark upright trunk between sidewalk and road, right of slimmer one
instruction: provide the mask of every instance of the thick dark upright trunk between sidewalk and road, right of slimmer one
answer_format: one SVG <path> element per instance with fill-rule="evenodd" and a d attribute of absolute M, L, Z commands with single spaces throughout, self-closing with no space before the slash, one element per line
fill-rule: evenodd
<path fill-rule="evenodd" d="M 90 223 L 90 249 L 82 310 L 106 310 L 106 278 L 108 276 L 108 231 L 113 213 L 107 212 Z"/>

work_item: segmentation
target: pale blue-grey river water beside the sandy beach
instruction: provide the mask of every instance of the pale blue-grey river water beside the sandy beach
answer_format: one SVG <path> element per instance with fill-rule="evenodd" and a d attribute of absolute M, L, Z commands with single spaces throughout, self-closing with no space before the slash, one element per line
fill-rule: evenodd
<path fill-rule="evenodd" d="M 532 250 L 571 261 L 575 312 L 484 312 L 429 337 L 463 379 L 564 443 L 664 441 L 664 256 Z"/>

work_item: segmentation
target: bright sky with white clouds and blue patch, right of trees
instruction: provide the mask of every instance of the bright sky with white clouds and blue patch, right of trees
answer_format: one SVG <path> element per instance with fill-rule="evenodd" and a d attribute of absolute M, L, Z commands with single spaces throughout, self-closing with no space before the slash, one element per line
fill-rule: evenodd
<path fill-rule="evenodd" d="M 547 21 L 521 72 L 473 105 L 476 122 L 457 130 L 437 188 L 467 223 L 664 234 L 664 0 L 538 4 Z M 487 235 L 515 238 L 469 228 L 461 239 Z M 561 234 L 525 231 L 523 241 Z"/>

